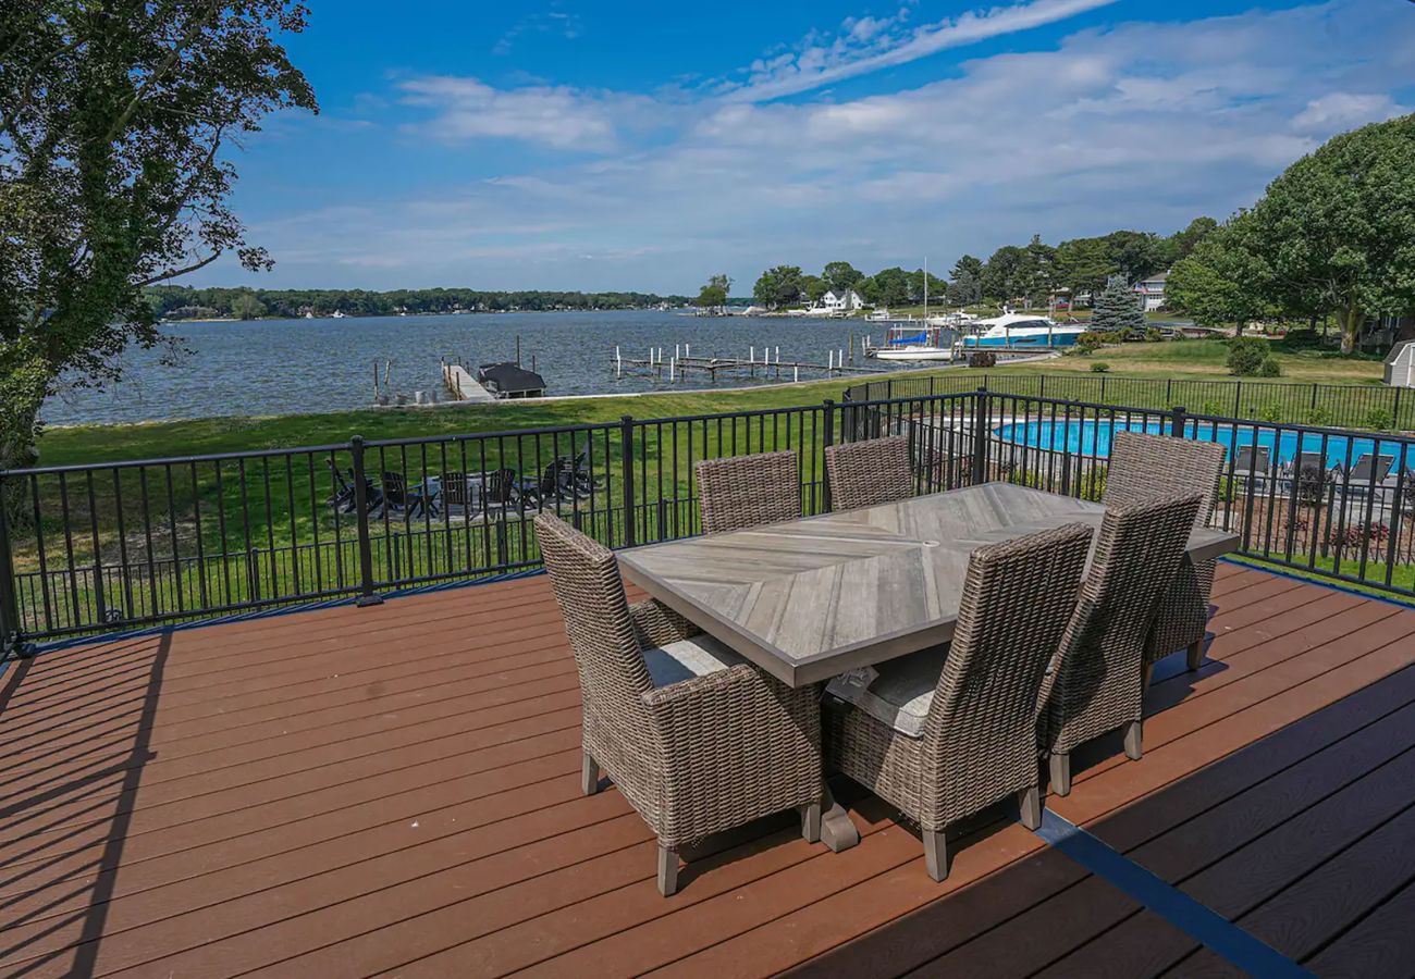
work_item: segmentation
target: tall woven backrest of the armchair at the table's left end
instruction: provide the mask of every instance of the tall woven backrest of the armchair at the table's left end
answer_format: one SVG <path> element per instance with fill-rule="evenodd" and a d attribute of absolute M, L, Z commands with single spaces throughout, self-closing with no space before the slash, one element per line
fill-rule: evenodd
<path fill-rule="evenodd" d="M 586 727 L 603 723 L 624 733 L 644 714 L 641 695 L 652 682 L 614 552 L 553 514 L 539 514 L 535 529 L 574 651 Z"/>

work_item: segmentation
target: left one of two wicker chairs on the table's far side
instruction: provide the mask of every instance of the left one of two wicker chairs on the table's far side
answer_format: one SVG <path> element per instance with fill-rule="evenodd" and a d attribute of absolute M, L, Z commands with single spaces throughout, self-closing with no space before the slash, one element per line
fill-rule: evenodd
<path fill-rule="evenodd" d="M 801 516 L 795 453 L 730 456 L 698 463 L 703 533 L 726 533 Z"/>

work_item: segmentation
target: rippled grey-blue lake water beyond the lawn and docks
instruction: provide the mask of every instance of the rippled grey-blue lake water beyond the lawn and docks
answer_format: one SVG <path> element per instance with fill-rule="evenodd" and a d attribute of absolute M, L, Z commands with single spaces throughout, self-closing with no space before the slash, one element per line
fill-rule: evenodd
<path fill-rule="evenodd" d="M 853 334 L 859 365 L 862 334 L 879 342 L 884 327 L 860 320 L 644 310 L 183 323 L 164 327 L 190 351 L 180 364 L 163 365 L 157 351 L 129 351 L 120 383 L 55 396 L 44 407 L 44 420 L 82 424 L 366 407 L 374 403 L 374 361 L 386 359 L 393 361 L 392 390 L 409 396 L 436 390 L 441 398 L 440 358 L 471 365 L 515 359 L 516 337 L 522 364 L 529 368 L 535 357 L 548 395 L 706 388 L 708 379 L 696 375 L 686 383 L 669 383 L 666 376 L 616 379 L 614 347 L 637 359 L 647 358 L 649 347 L 661 347 L 666 361 L 675 344 L 691 345 L 693 357 L 732 358 L 746 358 L 751 347 L 760 358 L 770 344 L 773 357 L 780 347 L 782 361 L 825 364 L 829 351 L 849 349 Z M 720 388 L 753 383 L 767 381 L 717 381 Z"/>

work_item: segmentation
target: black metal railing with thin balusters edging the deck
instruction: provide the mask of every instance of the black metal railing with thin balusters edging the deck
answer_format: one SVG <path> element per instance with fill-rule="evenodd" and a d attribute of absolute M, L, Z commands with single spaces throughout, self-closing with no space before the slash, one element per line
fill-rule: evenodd
<path fill-rule="evenodd" d="M 699 532 L 693 467 L 722 456 L 795 451 L 802 512 L 818 514 L 831 505 L 825 448 L 891 433 L 911 437 L 918 492 L 1006 480 L 1090 499 L 1104 494 L 1116 430 L 1220 441 L 1228 453 L 1213 519 L 1241 536 L 1244 555 L 1415 596 L 1415 440 L 930 392 L 927 379 L 862 399 L 880 383 L 839 405 L 0 473 L 0 635 L 13 645 L 282 604 L 376 603 L 535 569 L 531 518 L 543 509 L 614 548 L 689 536 Z"/>

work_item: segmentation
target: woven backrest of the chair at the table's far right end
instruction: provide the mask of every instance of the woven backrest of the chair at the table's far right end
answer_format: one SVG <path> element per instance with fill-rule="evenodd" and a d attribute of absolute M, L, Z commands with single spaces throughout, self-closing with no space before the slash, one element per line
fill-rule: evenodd
<path fill-rule="evenodd" d="M 1214 512 L 1225 456 L 1227 450 L 1217 441 L 1116 431 L 1111 440 L 1101 502 L 1126 506 L 1156 495 L 1187 497 L 1197 492 L 1200 502 L 1194 525 L 1203 526 Z"/>

